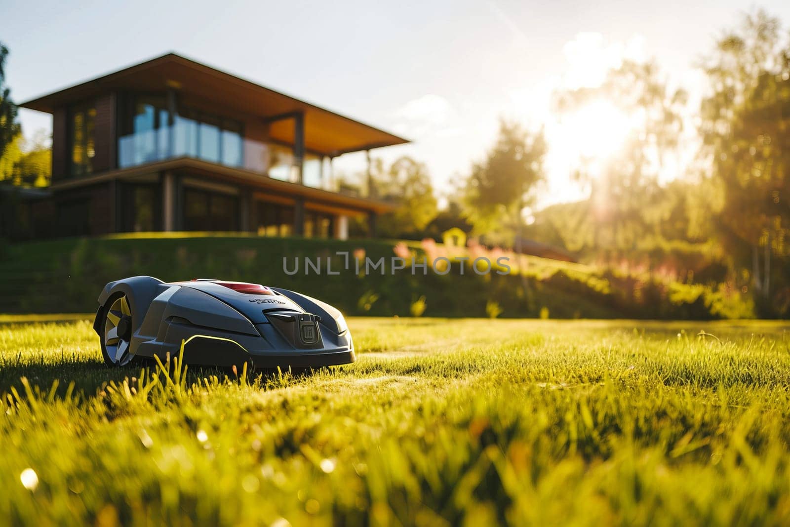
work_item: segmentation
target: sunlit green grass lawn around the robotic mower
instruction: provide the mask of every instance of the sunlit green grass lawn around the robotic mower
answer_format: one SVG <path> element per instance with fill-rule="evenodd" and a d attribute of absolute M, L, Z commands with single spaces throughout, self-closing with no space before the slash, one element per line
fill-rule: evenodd
<path fill-rule="evenodd" d="M 790 521 L 788 324 L 349 326 L 348 367 L 167 381 L 87 320 L 4 319 L 2 522 Z"/>

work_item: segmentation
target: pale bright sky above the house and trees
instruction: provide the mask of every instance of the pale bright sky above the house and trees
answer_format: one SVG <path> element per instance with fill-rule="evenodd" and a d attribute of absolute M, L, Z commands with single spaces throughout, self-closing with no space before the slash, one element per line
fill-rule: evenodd
<path fill-rule="evenodd" d="M 499 119 L 544 126 L 540 206 L 583 197 L 574 159 L 614 148 L 627 127 L 615 115 L 591 130 L 607 107 L 560 121 L 557 90 L 600 83 L 623 58 L 654 58 L 693 112 L 705 88 L 694 65 L 739 13 L 762 7 L 790 24 L 786 0 L 8 2 L 0 41 L 17 102 L 174 51 L 411 139 L 373 154 L 422 161 L 442 195 L 491 147 Z M 50 115 L 20 118 L 28 137 L 51 130 Z M 686 134 L 664 179 L 693 155 L 693 126 Z M 359 154 L 335 160 L 336 171 L 362 167 Z"/>

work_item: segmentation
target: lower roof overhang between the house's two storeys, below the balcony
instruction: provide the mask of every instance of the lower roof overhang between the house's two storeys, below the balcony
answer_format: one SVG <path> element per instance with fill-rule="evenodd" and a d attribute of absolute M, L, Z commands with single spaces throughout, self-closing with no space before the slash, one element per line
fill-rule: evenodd
<path fill-rule="evenodd" d="M 52 192 L 88 186 L 94 183 L 103 183 L 112 179 L 134 178 L 139 175 L 149 175 L 161 171 L 189 171 L 189 175 L 204 175 L 211 179 L 222 182 L 237 183 L 248 186 L 255 191 L 264 191 L 273 196 L 288 198 L 303 198 L 306 206 L 326 205 L 337 210 L 348 210 L 359 213 L 389 213 L 395 209 L 395 205 L 386 201 L 379 201 L 368 198 L 359 198 L 348 194 L 340 194 L 330 190 L 314 188 L 312 186 L 300 185 L 272 179 L 266 175 L 246 171 L 240 168 L 224 167 L 209 161 L 198 160 L 192 157 L 176 157 L 174 159 L 157 161 L 155 163 L 143 164 L 137 167 L 120 168 L 103 172 L 99 175 L 92 175 L 79 179 L 65 179 L 52 183 L 49 189 Z M 218 177 L 219 176 L 219 177 Z"/>

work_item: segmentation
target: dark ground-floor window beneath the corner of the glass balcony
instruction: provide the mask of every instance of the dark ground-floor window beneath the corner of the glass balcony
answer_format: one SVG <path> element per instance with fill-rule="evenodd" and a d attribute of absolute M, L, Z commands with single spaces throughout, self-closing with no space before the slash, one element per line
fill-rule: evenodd
<path fill-rule="evenodd" d="M 236 231 L 239 200 L 207 190 L 184 190 L 184 228 L 187 231 Z"/>

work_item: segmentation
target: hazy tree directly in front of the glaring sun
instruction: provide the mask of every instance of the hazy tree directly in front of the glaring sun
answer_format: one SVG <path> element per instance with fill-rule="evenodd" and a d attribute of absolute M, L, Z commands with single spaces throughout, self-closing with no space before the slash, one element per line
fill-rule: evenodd
<path fill-rule="evenodd" d="M 575 215 L 570 235 L 578 249 L 633 250 L 656 226 L 645 207 L 659 198 L 658 176 L 683 130 L 687 94 L 670 90 L 655 62 L 626 61 L 602 85 L 560 93 L 556 103 L 567 112 L 596 101 L 611 103 L 637 124 L 619 152 L 598 160 L 597 174 L 589 160 L 580 160 L 575 177 L 590 184 L 591 195 L 584 213 Z"/>

